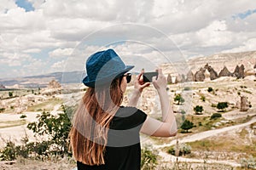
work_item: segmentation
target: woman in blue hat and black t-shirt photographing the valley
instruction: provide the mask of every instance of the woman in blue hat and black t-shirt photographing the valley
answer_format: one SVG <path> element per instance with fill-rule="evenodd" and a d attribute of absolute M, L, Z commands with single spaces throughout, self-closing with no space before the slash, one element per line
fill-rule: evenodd
<path fill-rule="evenodd" d="M 73 156 L 78 169 L 140 169 L 139 133 L 170 137 L 177 133 L 176 120 L 166 93 L 166 77 L 159 69 L 153 77 L 160 96 L 162 122 L 136 108 L 137 101 L 148 87 L 142 73 L 134 81 L 129 107 L 120 106 L 134 66 L 125 65 L 113 49 L 92 54 L 86 61 L 89 87 L 73 116 L 70 132 Z"/>

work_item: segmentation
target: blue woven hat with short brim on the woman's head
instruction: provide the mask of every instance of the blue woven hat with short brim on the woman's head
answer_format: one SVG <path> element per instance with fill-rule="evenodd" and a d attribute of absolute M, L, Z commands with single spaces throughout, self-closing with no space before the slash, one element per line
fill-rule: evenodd
<path fill-rule="evenodd" d="M 111 83 L 114 78 L 130 71 L 134 65 L 125 65 L 113 49 L 90 55 L 86 61 L 86 77 L 83 83 L 88 87 Z M 110 84 L 109 84 L 110 85 Z"/>

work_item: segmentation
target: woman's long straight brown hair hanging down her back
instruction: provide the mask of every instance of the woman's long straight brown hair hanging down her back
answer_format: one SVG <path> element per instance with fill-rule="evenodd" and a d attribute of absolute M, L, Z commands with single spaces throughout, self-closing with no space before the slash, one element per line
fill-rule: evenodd
<path fill-rule="evenodd" d="M 69 133 L 73 156 L 86 165 L 102 165 L 108 142 L 108 127 L 121 105 L 122 77 L 108 87 L 88 88 L 78 110 L 73 116 Z"/>

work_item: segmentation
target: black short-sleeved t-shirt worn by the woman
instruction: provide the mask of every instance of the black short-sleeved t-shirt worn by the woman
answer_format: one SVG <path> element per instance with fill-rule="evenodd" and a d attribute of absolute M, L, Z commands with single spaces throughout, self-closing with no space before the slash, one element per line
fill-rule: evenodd
<path fill-rule="evenodd" d="M 147 115 L 135 107 L 120 107 L 108 131 L 108 144 L 101 166 L 77 161 L 78 170 L 137 170 L 141 163 L 139 131 Z"/>

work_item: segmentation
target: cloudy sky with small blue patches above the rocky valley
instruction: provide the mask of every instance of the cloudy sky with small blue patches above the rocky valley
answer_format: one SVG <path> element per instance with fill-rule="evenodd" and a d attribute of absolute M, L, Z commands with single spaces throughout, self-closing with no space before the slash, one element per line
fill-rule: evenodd
<path fill-rule="evenodd" d="M 83 70 L 85 59 L 109 44 L 137 65 L 164 63 L 165 57 L 155 57 L 163 54 L 172 61 L 180 54 L 189 59 L 256 50 L 251 0 L 1 3 L 0 78 Z"/>

